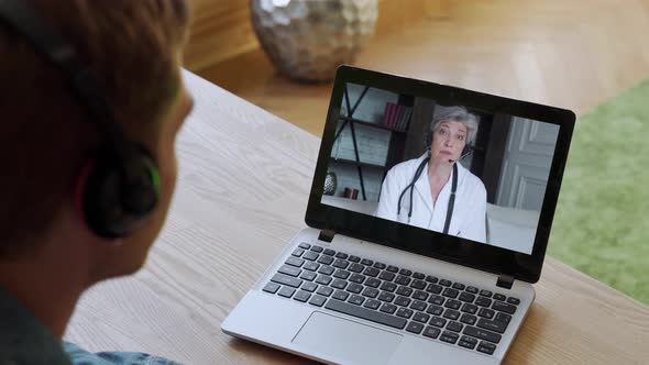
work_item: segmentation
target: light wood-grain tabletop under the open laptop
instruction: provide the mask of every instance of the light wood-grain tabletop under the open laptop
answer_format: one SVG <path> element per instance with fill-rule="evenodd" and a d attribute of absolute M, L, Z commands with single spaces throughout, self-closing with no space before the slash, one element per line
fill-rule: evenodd
<path fill-rule="evenodd" d="M 138 275 L 81 298 L 65 339 L 188 364 L 308 363 L 219 328 L 305 226 L 320 140 L 197 76 L 185 79 L 196 109 L 178 137 L 165 229 Z M 550 257 L 535 288 L 506 363 L 649 361 L 646 306 Z"/>

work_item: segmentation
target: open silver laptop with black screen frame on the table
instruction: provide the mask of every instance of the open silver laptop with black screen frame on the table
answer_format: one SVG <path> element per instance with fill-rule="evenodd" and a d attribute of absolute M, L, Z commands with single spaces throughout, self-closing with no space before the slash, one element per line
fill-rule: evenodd
<path fill-rule="evenodd" d="M 307 226 L 222 331 L 330 364 L 501 363 L 535 299 L 574 121 L 341 66 Z"/>

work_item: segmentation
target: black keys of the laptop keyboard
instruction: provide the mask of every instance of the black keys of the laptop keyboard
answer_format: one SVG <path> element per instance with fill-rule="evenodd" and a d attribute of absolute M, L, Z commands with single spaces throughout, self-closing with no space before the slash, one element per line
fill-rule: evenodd
<path fill-rule="evenodd" d="M 306 242 L 263 290 L 490 355 L 520 303 Z"/>

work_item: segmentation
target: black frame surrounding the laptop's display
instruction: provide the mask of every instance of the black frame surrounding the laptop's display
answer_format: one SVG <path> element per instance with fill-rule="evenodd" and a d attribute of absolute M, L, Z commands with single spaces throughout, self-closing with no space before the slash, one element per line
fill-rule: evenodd
<path fill-rule="evenodd" d="M 343 90 L 348 82 L 385 89 L 397 93 L 430 98 L 442 104 L 462 104 L 485 112 L 505 113 L 559 125 L 558 141 L 552 157 L 531 255 L 322 203 L 324 178 L 334 142 Z M 550 228 L 559 198 L 563 169 L 568 159 L 574 121 L 574 113 L 564 109 L 397 75 L 341 66 L 336 74 L 331 92 L 327 122 L 318 155 L 318 164 L 316 166 L 305 218 L 306 223 L 309 226 L 320 230 L 332 230 L 359 240 L 443 259 L 497 275 L 510 275 L 516 279 L 528 283 L 536 283 L 541 274 L 546 247 L 550 236 Z"/>

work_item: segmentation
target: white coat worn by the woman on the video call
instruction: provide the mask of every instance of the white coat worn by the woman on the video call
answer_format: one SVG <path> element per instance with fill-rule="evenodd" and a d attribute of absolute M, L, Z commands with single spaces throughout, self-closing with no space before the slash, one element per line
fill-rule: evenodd
<path fill-rule="evenodd" d="M 425 167 L 424 173 L 415 184 L 415 191 L 413 191 L 413 215 L 410 217 L 410 222 L 408 222 L 410 189 L 404 193 L 402 198 L 402 210 L 397 212 L 399 196 L 413 181 L 415 172 L 424 158 L 426 158 L 426 154 L 419 158 L 403 162 L 391 168 L 383 180 L 381 198 L 378 199 L 375 215 L 442 232 L 447 219 L 449 198 L 451 196 L 452 175 L 449 177 L 449 180 L 437 198 L 437 202 L 433 204 L 427 174 L 428 167 Z M 455 191 L 455 203 L 449 226 L 449 234 L 485 243 L 485 213 L 486 190 L 484 184 L 461 164 L 458 164 L 458 189 Z"/>

